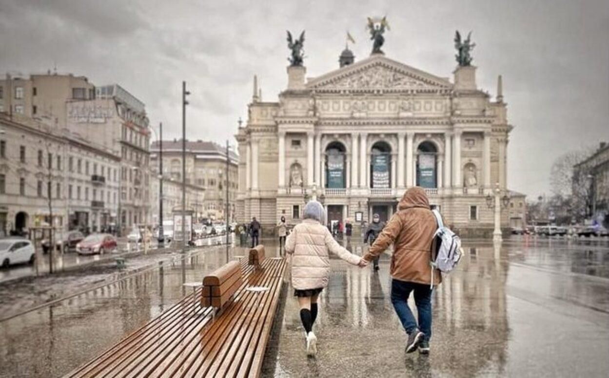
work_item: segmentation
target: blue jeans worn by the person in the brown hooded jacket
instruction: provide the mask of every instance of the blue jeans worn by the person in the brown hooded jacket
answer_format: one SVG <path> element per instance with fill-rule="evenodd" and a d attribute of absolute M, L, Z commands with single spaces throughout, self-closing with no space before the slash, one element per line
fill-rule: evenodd
<path fill-rule="evenodd" d="M 417 305 L 418 325 L 407 303 L 410 292 L 413 291 L 415 293 L 415 304 Z M 402 322 L 404 330 L 407 334 L 410 334 L 418 328 L 425 334 L 424 340 L 428 341 L 431 338 L 431 292 L 430 286 L 426 284 L 398 279 L 391 281 L 391 303 Z"/>

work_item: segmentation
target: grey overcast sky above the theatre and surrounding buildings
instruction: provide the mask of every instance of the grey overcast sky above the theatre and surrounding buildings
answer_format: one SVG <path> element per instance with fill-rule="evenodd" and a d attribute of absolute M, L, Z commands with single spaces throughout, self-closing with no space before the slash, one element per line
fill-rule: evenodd
<path fill-rule="evenodd" d="M 454 30 L 473 30 L 477 82 L 504 78 L 515 126 L 509 186 L 549 192 L 557 156 L 609 141 L 609 1 L 0 0 L 0 72 L 46 72 L 119 83 L 146 103 L 153 127 L 181 135 L 181 80 L 192 95 L 188 139 L 235 144 L 252 77 L 263 100 L 285 88 L 286 29 L 306 30 L 314 77 L 336 69 L 345 30 L 370 53 L 367 16 L 387 15 L 387 57 L 452 77 Z M 452 79 L 451 79 L 452 80 Z"/>

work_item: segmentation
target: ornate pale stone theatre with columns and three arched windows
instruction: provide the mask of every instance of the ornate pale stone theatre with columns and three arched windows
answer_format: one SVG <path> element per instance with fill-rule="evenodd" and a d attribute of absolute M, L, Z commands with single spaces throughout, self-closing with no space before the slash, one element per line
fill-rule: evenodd
<path fill-rule="evenodd" d="M 485 196 L 496 185 L 509 193 L 512 125 L 501 76 L 491 100 L 467 62 L 453 80 L 382 53 L 355 62 L 343 51 L 339 62 L 309 79 L 305 66 L 289 66 L 278 101 L 262 101 L 254 79 L 247 125 L 236 135 L 238 220 L 255 216 L 270 226 L 284 215 L 298 222 L 311 197 L 323 201 L 328 220 L 388 219 L 404 191 L 418 185 L 452 228 L 490 236 Z M 507 209 L 502 226 L 509 226 Z"/>

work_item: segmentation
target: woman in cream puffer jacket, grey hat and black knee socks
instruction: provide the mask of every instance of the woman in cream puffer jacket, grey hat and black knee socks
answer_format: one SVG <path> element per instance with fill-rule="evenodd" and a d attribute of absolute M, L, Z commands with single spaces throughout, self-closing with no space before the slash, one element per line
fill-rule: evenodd
<path fill-rule="evenodd" d="M 353 265 L 364 267 L 367 263 L 359 256 L 334 240 L 328 229 L 323 226 L 325 211 L 318 201 L 309 201 L 303 210 L 303 222 L 292 229 L 286 240 L 286 253 L 292 254 L 292 286 L 294 296 L 298 297 L 300 320 L 305 327 L 306 352 L 317 352 L 317 337 L 313 325 L 317 319 L 317 298 L 328 286 L 330 264 L 328 251 Z"/>

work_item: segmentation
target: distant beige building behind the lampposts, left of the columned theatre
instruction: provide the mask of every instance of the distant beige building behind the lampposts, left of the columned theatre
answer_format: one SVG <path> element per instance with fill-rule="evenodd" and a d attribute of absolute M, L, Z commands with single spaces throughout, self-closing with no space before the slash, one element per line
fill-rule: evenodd
<path fill-rule="evenodd" d="M 159 142 L 155 141 L 150 147 L 151 165 L 157 169 Z M 230 219 L 234 218 L 235 201 L 237 198 L 237 164 L 239 156 L 234 152 L 229 153 L 228 180 L 227 180 L 227 152 L 214 142 L 208 141 L 186 141 L 186 184 L 195 191 L 199 188 L 200 193 L 194 194 L 196 198 L 203 198 L 202 203 L 194 203 L 191 207 L 197 212 L 198 219 L 225 220 L 227 187 L 228 203 L 231 213 Z M 181 183 L 182 180 L 182 141 L 174 139 L 163 141 L 163 177 L 165 184 L 168 180 Z M 164 186 L 163 186 L 164 192 Z M 187 191 L 187 195 L 188 195 Z M 181 193 L 181 187 L 180 187 Z M 188 201 L 188 198 L 187 198 Z M 181 194 L 178 205 L 181 205 Z M 200 208 L 200 211 L 197 210 Z M 171 209 L 164 209 L 170 211 Z M 157 211 L 158 212 L 158 211 Z"/>

